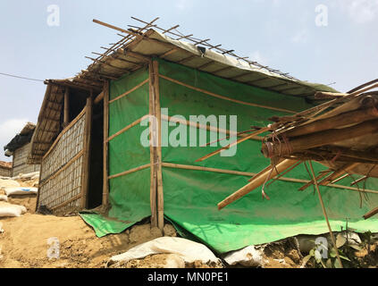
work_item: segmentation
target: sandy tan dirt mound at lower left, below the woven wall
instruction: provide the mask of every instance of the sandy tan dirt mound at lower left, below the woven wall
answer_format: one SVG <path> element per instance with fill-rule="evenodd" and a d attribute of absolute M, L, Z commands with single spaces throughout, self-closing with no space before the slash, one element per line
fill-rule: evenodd
<path fill-rule="evenodd" d="M 0 222 L 4 229 L 0 233 L 0 268 L 104 267 L 110 257 L 162 236 L 158 229 L 143 224 L 97 238 L 80 216 L 23 214 Z M 50 238 L 59 240 L 59 259 L 47 258 Z"/>

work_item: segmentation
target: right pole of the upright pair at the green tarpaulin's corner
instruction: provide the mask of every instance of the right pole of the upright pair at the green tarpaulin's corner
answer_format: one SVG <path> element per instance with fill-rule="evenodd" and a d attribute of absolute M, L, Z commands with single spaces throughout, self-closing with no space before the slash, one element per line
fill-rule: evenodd
<path fill-rule="evenodd" d="M 159 88 L 159 62 L 152 63 L 155 88 L 155 116 L 157 120 L 157 147 L 156 147 L 156 174 L 157 174 L 157 225 L 160 230 L 164 229 L 164 190 L 162 174 L 162 115 L 160 109 L 160 88 Z"/>

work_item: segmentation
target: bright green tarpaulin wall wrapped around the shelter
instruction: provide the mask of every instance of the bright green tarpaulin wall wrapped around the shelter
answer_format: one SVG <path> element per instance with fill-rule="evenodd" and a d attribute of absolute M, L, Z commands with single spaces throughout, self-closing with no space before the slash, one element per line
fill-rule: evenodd
<path fill-rule="evenodd" d="M 224 80 L 176 63 L 167 63 L 160 59 L 157 61 L 159 73 L 163 76 L 223 97 L 293 112 L 311 107 L 303 98 L 282 96 L 262 88 Z M 147 78 L 148 71 L 139 70 L 120 80 L 112 81 L 110 99 L 122 95 Z M 161 107 L 167 108 L 167 115 L 175 117 L 180 115 L 186 120 L 189 120 L 190 115 L 200 114 L 205 116 L 214 114 L 216 118 L 227 115 L 228 120 L 230 115 L 238 115 L 238 131 L 241 131 L 250 129 L 251 125 L 265 126 L 269 123 L 267 121 L 269 117 L 286 114 L 212 97 L 163 78 L 159 80 L 159 87 Z M 148 83 L 146 83 L 126 97 L 111 103 L 109 136 L 148 114 L 148 98 Z M 109 142 L 110 175 L 149 163 L 149 147 L 142 147 L 140 144 L 140 136 L 147 129 L 146 125 L 137 124 Z M 168 134 L 170 138 L 170 145 L 162 147 L 163 163 L 254 173 L 260 172 L 270 164 L 269 160 L 260 153 L 261 142 L 256 140 L 239 144 L 235 156 L 218 155 L 202 163 L 196 163 L 197 158 L 221 146 L 199 147 L 199 129 L 174 125 L 174 123 L 162 122 L 162 133 Z M 190 132 L 197 133 L 197 139 L 189 137 Z M 206 131 L 206 134 L 207 141 L 210 141 L 211 136 L 217 135 L 212 131 Z M 221 133 L 219 137 L 223 138 L 224 134 Z M 163 136 L 162 139 L 164 146 L 165 137 Z M 180 141 L 181 146 L 172 147 L 172 142 L 174 145 L 179 139 L 183 139 Z M 315 171 L 323 169 L 325 168 L 322 165 L 315 164 Z M 309 180 L 303 164 L 285 176 Z M 193 238 L 203 241 L 220 253 L 298 234 L 321 234 L 328 231 L 314 190 L 308 188 L 306 191 L 298 191 L 303 183 L 274 181 L 265 189 L 270 200 L 263 200 L 260 188 L 218 211 L 217 203 L 247 184 L 248 179 L 248 176 L 164 166 L 164 215 L 178 229 L 188 231 Z M 352 179 L 346 178 L 339 183 L 349 186 L 351 181 Z M 95 228 L 98 236 L 123 231 L 151 214 L 149 168 L 111 179 L 109 184 L 112 206 L 109 216 L 116 219 L 105 219 L 98 214 L 81 214 L 83 219 Z M 378 189 L 378 183 L 369 179 L 365 187 Z M 369 194 L 367 200 L 363 199 L 363 206 L 360 208 L 357 191 L 332 187 L 321 187 L 321 191 L 334 231 L 340 231 L 341 227 L 345 229 L 347 219 L 349 227 L 356 231 L 378 231 L 377 219 L 371 218 L 368 221 L 362 219 L 363 214 L 378 206 L 377 195 Z"/>

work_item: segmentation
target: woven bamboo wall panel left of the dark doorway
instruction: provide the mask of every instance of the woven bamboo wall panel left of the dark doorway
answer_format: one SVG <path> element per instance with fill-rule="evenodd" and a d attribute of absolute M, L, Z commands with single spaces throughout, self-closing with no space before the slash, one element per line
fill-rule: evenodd
<path fill-rule="evenodd" d="M 43 158 L 38 206 L 59 211 L 80 208 L 85 124 L 82 113 Z"/>

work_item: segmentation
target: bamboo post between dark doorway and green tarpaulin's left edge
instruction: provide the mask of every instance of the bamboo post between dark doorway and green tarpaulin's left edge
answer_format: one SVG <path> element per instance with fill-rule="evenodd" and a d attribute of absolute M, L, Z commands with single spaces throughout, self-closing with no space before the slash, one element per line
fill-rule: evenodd
<path fill-rule="evenodd" d="M 109 136 L 109 81 L 105 81 L 104 90 L 104 146 L 103 146 L 103 206 L 109 201 L 109 181 L 108 181 L 108 136 Z"/>

